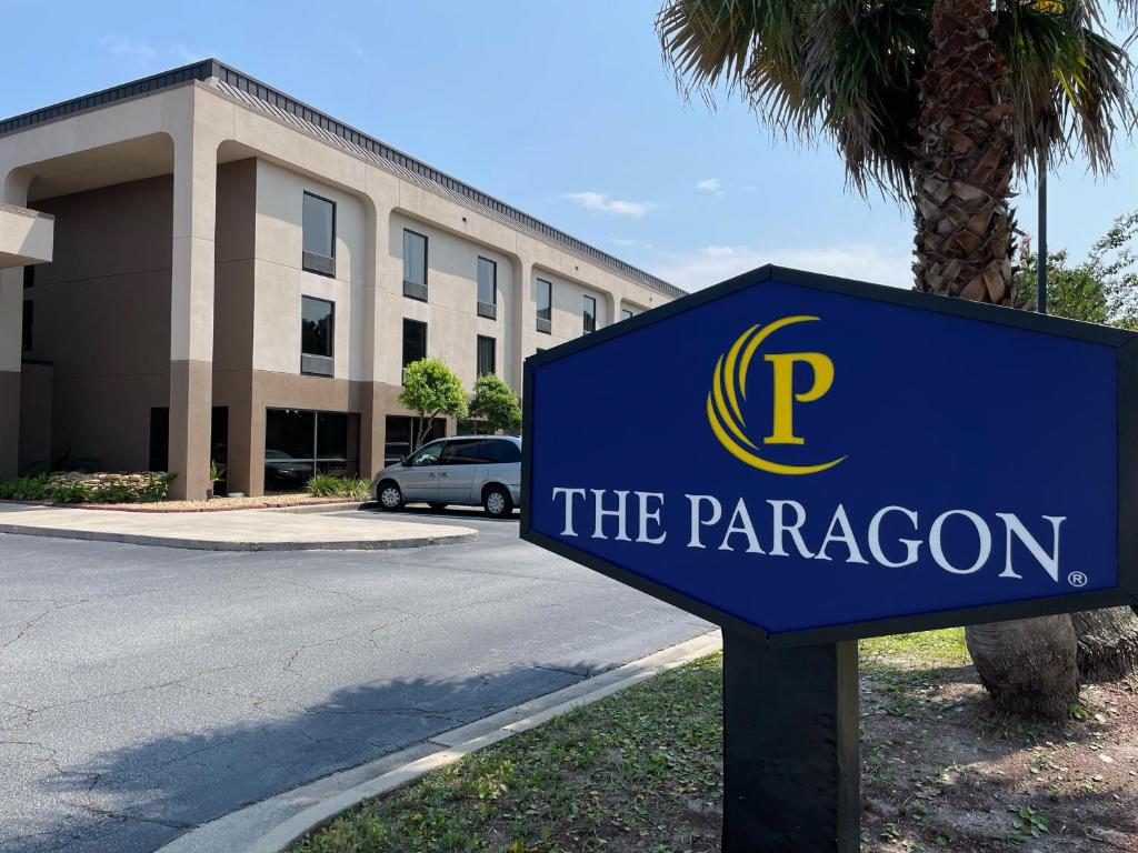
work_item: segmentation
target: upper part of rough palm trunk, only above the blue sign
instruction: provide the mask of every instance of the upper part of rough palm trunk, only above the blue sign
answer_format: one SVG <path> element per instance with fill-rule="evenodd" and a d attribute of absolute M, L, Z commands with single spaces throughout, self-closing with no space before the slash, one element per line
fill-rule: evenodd
<path fill-rule="evenodd" d="M 1012 305 L 1008 65 L 984 0 L 935 0 L 914 173 L 917 290 Z"/>

